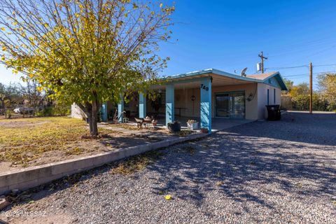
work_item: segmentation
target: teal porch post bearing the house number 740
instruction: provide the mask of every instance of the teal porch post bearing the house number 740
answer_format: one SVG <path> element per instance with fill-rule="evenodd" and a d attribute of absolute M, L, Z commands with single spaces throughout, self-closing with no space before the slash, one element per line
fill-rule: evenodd
<path fill-rule="evenodd" d="M 211 132 L 211 77 L 201 79 L 201 128 Z"/>

